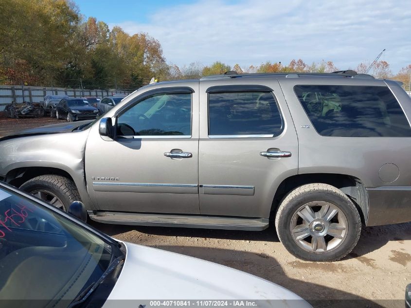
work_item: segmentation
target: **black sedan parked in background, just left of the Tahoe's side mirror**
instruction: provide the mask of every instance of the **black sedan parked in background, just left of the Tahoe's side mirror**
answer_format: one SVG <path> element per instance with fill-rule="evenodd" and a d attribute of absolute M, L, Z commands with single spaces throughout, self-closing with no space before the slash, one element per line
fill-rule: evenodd
<path fill-rule="evenodd" d="M 67 122 L 97 119 L 98 109 L 82 98 L 64 98 L 56 105 L 55 116 L 57 119 L 67 119 Z"/>

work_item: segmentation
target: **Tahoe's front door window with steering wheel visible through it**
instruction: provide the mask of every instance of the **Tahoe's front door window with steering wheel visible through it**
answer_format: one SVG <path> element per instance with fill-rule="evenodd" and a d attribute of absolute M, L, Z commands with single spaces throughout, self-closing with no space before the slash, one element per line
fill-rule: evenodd
<path fill-rule="evenodd" d="M 191 93 L 155 94 L 118 117 L 119 136 L 191 135 Z"/>

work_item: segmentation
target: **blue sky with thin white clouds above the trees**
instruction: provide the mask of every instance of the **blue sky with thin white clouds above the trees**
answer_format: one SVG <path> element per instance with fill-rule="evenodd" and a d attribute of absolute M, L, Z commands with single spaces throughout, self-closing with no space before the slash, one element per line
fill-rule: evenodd
<path fill-rule="evenodd" d="M 333 60 L 355 69 L 381 59 L 396 73 L 411 64 L 410 0 L 75 0 L 80 12 L 158 39 L 180 67 L 216 60 L 231 66 L 265 61 Z"/>

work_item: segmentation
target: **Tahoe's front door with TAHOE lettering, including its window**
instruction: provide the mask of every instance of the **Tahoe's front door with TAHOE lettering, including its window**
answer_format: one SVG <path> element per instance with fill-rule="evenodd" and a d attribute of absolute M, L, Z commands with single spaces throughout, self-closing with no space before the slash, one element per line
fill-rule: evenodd
<path fill-rule="evenodd" d="M 115 140 L 91 128 L 86 177 L 98 208 L 198 214 L 198 82 L 135 100 L 117 116 Z"/>

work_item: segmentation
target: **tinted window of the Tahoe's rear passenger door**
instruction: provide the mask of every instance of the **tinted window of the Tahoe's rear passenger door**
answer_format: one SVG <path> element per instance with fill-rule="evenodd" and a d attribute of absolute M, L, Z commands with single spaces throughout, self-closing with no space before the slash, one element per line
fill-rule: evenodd
<path fill-rule="evenodd" d="M 270 92 L 209 93 L 209 135 L 279 135 L 282 120 Z"/>

